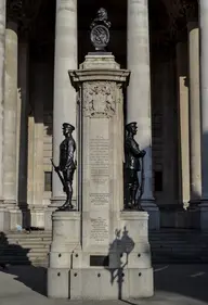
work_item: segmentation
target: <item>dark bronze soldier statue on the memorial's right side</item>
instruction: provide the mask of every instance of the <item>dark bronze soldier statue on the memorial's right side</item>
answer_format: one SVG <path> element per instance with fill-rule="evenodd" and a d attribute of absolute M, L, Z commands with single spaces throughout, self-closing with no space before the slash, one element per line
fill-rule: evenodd
<path fill-rule="evenodd" d="M 141 185 L 139 183 L 138 174 L 139 171 L 141 171 L 140 160 L 145 156 L 146 152 L 141 151 L 139 144 L 134 140 L 136 131 L 138 127 L 135 122 L 132 122 L 126 126 L 125 208 L 136 208 L 143 211 L 140 200 L 136 198 L 138 190 L 141 187 Z"/>

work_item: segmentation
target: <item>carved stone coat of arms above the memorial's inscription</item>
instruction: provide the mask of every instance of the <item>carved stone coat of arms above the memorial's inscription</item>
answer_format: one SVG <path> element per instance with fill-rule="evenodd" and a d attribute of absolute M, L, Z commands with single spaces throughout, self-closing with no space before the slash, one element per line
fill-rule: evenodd
<path fill-rule="evenodd" d="M 112 117 L 116 113 L 116 82 L 89 81 L 83 84 L 83 115 Z"/>

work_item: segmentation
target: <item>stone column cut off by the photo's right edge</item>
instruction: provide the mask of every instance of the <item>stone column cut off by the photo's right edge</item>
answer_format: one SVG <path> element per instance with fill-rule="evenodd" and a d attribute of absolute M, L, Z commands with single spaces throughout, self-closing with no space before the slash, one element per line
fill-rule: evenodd
<path fill-rule="evenodd" d="M 200 20 L 200 112 L 202 112 L 202 204 L 200 228 L 208 230 L 208 1 L 199 2 Z"/>

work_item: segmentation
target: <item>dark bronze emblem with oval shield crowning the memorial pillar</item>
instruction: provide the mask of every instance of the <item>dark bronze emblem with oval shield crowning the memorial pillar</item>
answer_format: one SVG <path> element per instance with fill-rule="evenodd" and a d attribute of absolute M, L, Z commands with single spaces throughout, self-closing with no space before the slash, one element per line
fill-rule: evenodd
<path fill-rule="evenodd" d="M 110 22 L 107 21 L 107 11 L 101 8 L 96 13 L 96 17 L 90 26 L 90 38 L 96 51 L 105 52 L 105 48 L 109 42 L 108 29 L 110 25 Z"/>

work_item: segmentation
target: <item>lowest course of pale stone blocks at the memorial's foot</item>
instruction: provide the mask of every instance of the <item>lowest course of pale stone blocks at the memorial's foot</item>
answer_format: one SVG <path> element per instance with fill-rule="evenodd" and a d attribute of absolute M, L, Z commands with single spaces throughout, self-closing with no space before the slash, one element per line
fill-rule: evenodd
<path fill-rule="evenodd" d="M 153 269 L 49 269 L 48 296 L 128 300 L 153 296 Z"/>

